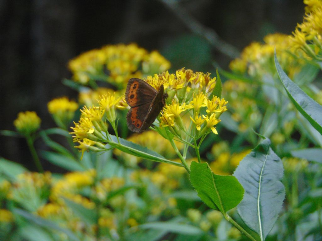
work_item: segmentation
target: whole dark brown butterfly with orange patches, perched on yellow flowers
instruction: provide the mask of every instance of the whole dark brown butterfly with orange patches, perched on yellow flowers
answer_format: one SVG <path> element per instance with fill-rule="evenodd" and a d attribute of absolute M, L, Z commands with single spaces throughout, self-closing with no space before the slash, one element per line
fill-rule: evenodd
<path fill-rule="evenodd" d="M 125 100 L 131 109 L 126 116 L 128 129 L 141 133 L 148 129 L 166 103 L 164 87 L 157 92 L 147 82 L 131 78 L 126 87 Z"/>

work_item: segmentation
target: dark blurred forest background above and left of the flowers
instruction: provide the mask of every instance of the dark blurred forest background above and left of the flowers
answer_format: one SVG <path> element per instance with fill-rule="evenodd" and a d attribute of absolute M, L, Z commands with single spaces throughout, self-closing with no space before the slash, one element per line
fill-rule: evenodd
<path fill-rule="evenodd" d="M 21 111 L 36 111 L 54 127 L 47 103 L 77 93 L 62 85 L 68 60 L 106 44 L 136 42 L 181 67 L 214 73 L 268 33 L 291 34 L 304 4 L 250 1 L 0 1 L 0 129 L 14 130 Z M 36 141 L 36 148 L 44 149 Z M 0 136 L 0 156 L 35 170 L 23 138 Z M 43 161 L 45 169 L 52 169 Z"/>

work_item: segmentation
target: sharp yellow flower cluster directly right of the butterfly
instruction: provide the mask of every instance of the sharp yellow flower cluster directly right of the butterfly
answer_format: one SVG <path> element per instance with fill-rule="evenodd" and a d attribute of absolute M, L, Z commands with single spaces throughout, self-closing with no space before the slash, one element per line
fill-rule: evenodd
<path fill-rule="evenodd" d="M 160 127 L 169 129 L 176 136 L 180 132 L 196 134 L 196 138 L 208 130 L 217 134 L 215 125 L 220 121 L 219 116 L 227 110 L 227 102 L 217 96 L 211 96 L 216 85 L 216 77 L 209 73 L 193 72 L 190 69 L 177 70 L 175 74 L 164 72 L 148 76 L 146 82 L 158 89 L 164 85 L 171 103 L 166 104 L 160 117 Z M 191 133 L 183 121 L 191 122 L 196 133 Z M 191 126 L 190 126 L 191 127 Z"/>

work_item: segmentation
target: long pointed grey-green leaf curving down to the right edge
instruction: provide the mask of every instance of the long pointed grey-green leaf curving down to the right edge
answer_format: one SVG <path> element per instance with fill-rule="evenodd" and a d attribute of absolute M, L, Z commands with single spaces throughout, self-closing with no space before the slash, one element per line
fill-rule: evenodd
<path fill-rule="evenodd" d="M 311 123 L 311 125 L 322 135 L 322 106 L 312 100 L 302 91 L 298 85 L 293 83 L 285 74 L 274 55 L 275 66 L 282 84 L 289 96 L 289 99 L 295 105 L 296 109 Z"/>

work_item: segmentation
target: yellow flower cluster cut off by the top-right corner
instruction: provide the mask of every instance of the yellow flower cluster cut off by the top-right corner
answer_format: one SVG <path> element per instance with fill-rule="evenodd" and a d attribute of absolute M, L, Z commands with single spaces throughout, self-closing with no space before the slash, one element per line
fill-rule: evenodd
<path fill-rule="evenodd" d="M 304 0 L 306 15 L 290 37 L 292 49 L 304 51 L 304 56 L 322 60 L 322 1 Z M 311 45 L 309 45 L 311 44 Z"/>

